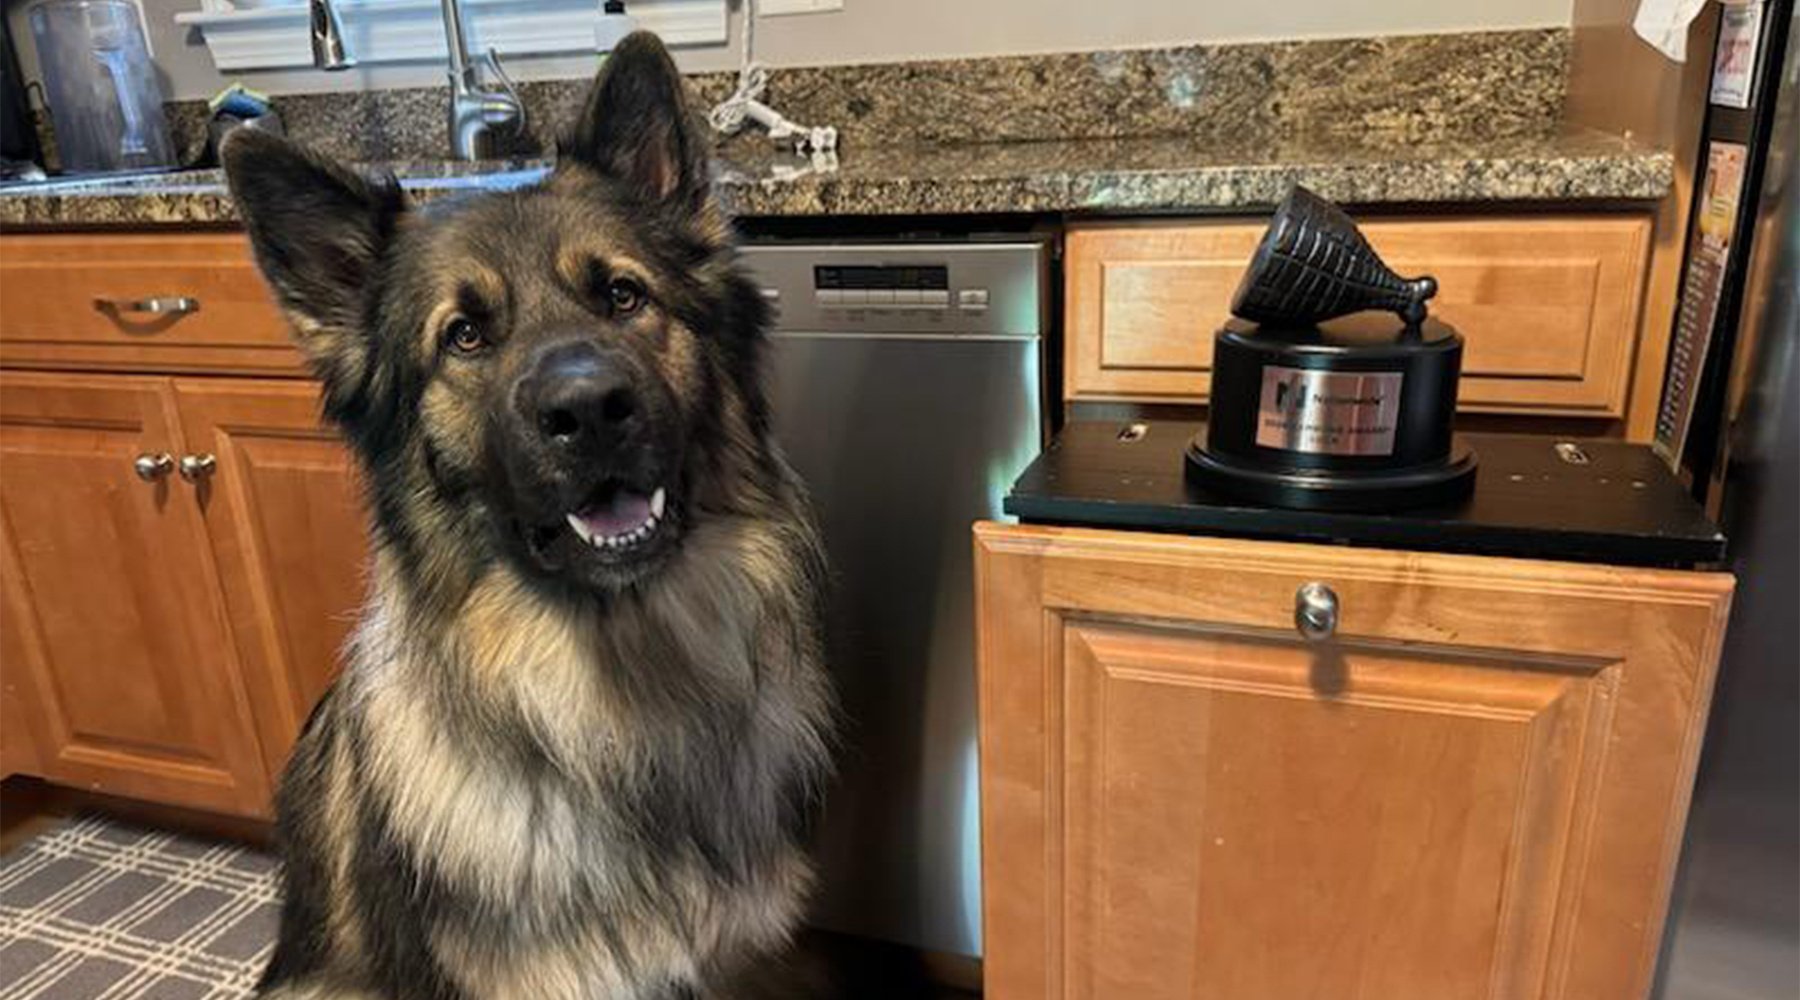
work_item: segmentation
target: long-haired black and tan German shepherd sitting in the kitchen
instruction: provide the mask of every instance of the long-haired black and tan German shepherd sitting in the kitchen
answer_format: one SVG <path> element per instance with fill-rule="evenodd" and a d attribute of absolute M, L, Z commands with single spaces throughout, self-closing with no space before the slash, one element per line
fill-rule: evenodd
<path fill-rule="evenodd" d="M 223 160 L 374 523 L 281 784 L 263 996 L 779 995 L 823 558 L 662 43 L 619 45 L 529 189 L 409 209 L 254 131 Z"/>

